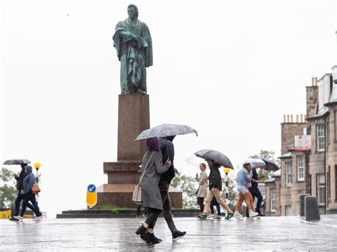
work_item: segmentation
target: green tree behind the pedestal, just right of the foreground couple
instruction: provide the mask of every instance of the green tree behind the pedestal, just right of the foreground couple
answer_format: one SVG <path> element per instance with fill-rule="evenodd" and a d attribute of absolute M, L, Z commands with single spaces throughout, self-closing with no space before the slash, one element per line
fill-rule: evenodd
<path fill-rule="evenodd" d="M 183 208 L 196 208 L 196 180 L 191 176 L 176 174 L 171 186 L 178 188 L 183 192 Z"/>

